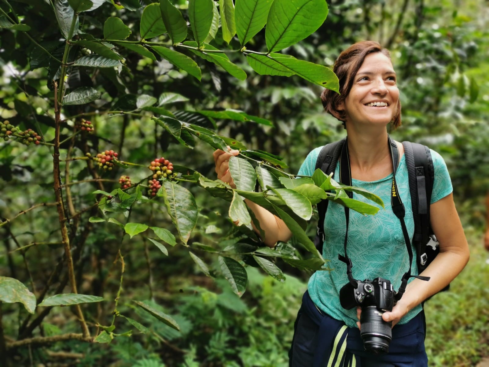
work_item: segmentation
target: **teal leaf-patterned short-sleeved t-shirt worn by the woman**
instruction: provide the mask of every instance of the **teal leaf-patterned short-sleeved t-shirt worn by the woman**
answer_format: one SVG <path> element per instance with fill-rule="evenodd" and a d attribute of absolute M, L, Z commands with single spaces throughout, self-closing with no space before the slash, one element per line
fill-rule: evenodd
<path fill-rule="evenodd" d="M 309 153 L 302 163 L 298 175 L 311 176 L 314 172 L 316 160 L 322 147 L 318 147 Z M 431 204 L 450 194 L 452 184 L 443 158 L 431 150 L 435 178 Z M 336 164 L 334 177 L 339 177 L 339 163 Z M 412 243 L 414 233 L 414 221 L 411 208 L 411 194 L 409 191 L 408 173 L 404 155 L 400 159 L 396 171 L 396 183 L 406 214 L 404 222 Z M 352 275 L 355 279 L 374 279 L 378 276 L 388 279 L 397 291 L 400 287 L 402 275 L 407 271 L 409 255 L 404 243 L 404 235 L 400 220 L 392 211 L 391 184 L 392 173 L 383 179 L 366 182 L 352 180 L 353 186 L 364 188 L 378 195 L 384 202 L 385 208 L 380 208 L 375 215 L 362 215 L 350 210 L 350 224 L 348 228 L 347 254 L 352 260 Z M 354 199 L 369 201 L 361 195 L 353 194 Z M 376 205 L 377 206 L 377 205 Z M 356 308 L 345 310 L 339 301 L 339 291 L 348 282 L 346 264 L 338 260 L 338 254 L 344 255 L 345 240 L 345 210 L 344 207 L 334 202 L 329 202 L 326 217 L 324 219 L 325 242 L 323 244 L 323 257 L 331 260 L 328 266 L 333 271 L 316 271 L 308 283 L 308 291 L 312 301 L 322 311 L 336 320 L 344 321 L 350 327 L 356 327 Z M 416 266 L 416 249 L 413 250 L 413 262 L 411 274 L 418 275 Z M 414 278 L 410 278 L 412 281 Z M 414 318 L 422 310 L 421 304 L 409 311 L 400 323 L 406 323 Z"/>

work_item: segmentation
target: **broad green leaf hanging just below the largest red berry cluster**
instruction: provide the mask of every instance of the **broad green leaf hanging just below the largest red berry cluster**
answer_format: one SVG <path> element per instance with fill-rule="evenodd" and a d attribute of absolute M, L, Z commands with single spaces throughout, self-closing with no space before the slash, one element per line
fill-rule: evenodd
<path fill-rule="evenodd" d="M 180 239 L 187 244 L 197 223 L 198 208 L 194 196 L 185 187 L 169 181 L 163 182 L 157 195 L 163 197 Z"/>

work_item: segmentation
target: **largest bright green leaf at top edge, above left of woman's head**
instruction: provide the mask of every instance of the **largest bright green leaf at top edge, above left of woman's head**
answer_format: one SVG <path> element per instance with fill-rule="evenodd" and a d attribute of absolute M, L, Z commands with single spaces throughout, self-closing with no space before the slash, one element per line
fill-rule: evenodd
<path fill-rule="evenodd" d="M 268 51 L 284 49 L 308 37 L 327 15 L 325 0 L 274 0 L 265 29 Z"/>

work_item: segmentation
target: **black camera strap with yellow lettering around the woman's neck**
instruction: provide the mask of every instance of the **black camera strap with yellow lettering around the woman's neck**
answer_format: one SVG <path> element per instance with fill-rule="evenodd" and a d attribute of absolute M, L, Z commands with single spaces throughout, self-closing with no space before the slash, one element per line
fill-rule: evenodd
<path fill-rule="evenodd" d="M 402 233 L 404 235 L 404 242 L 406 243 L 406 248 L 407 252 L 409 254 L 409 267 L 406 273 L 402 275 L 401 279 L 401 285 L 399 288 L 399 291 L 396 294 L 396 299 L 399 300 L 402 295 L 404 294 L 404 291 L 406 290 L 407 286 L 407 280 L 413 276 L 421 280 L 429 280 L 430 278 L 427 276 L 420 276 L 420 275 L 411 275 L 411 264 L 413 262 L 413 250 L 411 247 L 411 241 L 409 240 L 409 235 L 407 233 L 407 228 L 406 224 L 404 222 L 404 215 L 405 215 L 405 209 L 404 209 L 404 204 L 402 204 L 402 201 L 399 196 L 399 190 L 397 188 L 396 184 L 396 170 L 397 166 L 399 163 L 399 149 L 397 147 L 397 144 L 391 140 L 391 138 L 388 136 L 387 137 L 388 141 L 388 146 L 389 146 L 389 152 L 392 158 L 392 166 L 393 166 L 393 175 L 392 175 L 392 189 L 391 189 L 391 206 L 392 206 L 392 211 L 400 220 L 400 225 L 402 228 Z M 342 184 L 346 184 L 348 186 L 352 185 L 352 173 L 351 173 L 351 165 L 350 165 L 350 157 L 348 154 L 348 138 L 345 140 L 345 143 L 343 144 L 343 148 L 341 151 L 341 156 L 340 156 L 340 165 L 339 165 L 339 175 L 340 175 L 340 182 Z M 348 191 L 347 192 L 348 196 L 350 198 L 353 198 L 353 192 Z M 357 282 L 356 279 L 352 275 L 352 260 L 348 257 L 346 253 L 346 244 L 348 242 L 348 224 L 350 222 L 350 209 L 345 206 L 345 218 L 346 218 L 346 232 L 345 232 L 345 242 L 344 242 L 344 251 L 345 255 L 342 256 L 341 254 L 338 254 L 338 259 L 343 261 L 346 264 L 346 273 L 348 275 L 348 280 L 352 286 L 355 288 L 357 287 Z"/>

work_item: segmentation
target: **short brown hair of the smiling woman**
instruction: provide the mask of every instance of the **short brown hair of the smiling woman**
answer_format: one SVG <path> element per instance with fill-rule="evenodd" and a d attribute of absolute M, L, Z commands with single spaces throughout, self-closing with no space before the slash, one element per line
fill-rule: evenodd
<path fill-rule="evenodd" d="M 333 71 L 339 80 L 340 94 L 333 92 L 330 89 L 325 89 L 321 93 L 321 101 L 323 102 L 324 109 L 327 113 L 340 120 L 343 123 L 343 126 L 345 126 L 346 116 L 343 111 L 337 109 L 337 106 L 339 106 L 341 102 L 344 102 L 350 93 L 353 86 L 353 77 L 356 75 L 358 69 L 360 69 L 365 57 L 374 52 L 380 52 L 389 59 L 391 58 L 387 48 L 382 48 L 382 46 L 375 41 L 357 42 L 341 52 L 334 62 L 333 67 Z M 400 100 L 398 101 L 398 110 L 392 120 L 392 124 L 395 128 L 401 125 Z"/>

